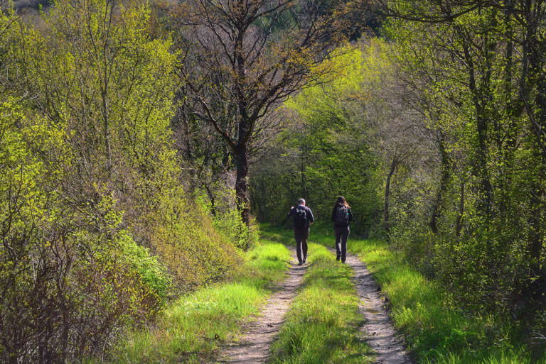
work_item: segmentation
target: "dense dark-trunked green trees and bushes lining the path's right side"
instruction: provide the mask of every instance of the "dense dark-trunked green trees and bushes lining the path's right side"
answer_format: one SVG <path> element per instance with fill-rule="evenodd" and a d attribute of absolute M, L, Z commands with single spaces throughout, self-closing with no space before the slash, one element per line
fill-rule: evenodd
<path fill-rule="evenodd" d="M 398 10 L 421 18 L 442 13 L 430 1 Z M 397 175 L 391 238 L 467 309 L 544 331 L 533 321 L 546 297 L 546 160 L 535 132 L 545 115 L 523 108 L 521 97 L 546 80 L 543 72 L 524 76 L 538 53 L 519 56 L 526 38 L 540 32 L 530 19 L 542 15 L 518 23 L 513 11 L 528 11 L 520 4 L 467 10 L 437 23 L 394 19 L 385 28 L 414 107 L 437 136 L 438 160 Z"/>

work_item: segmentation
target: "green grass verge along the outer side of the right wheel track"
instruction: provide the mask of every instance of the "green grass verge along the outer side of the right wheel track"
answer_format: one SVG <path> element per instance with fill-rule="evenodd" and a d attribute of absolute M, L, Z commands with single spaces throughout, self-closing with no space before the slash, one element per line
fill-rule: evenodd
<path fill-rule="evenodd" d="M 264 236 L 280 241 L 291 239 L 291 231 L 281 228 L 264 226 L 263 231 Z M 333 232 L 311 228 L 310 240 L 333 247 Z M 368 265 L 389 297 L 391 317 L 405 335 L 417 363 L 546 363 L 544 358 L 532 360 L 510 324 L 486 313 L 470 315 L 454 307 L 438 282 L 427 280 L 387 243 L 350 236 L 348 250 Z"/>

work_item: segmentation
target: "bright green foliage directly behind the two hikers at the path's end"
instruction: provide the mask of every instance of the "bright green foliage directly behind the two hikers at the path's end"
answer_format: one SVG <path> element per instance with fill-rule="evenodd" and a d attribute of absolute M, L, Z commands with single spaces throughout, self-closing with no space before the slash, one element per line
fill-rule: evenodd
<path fill-rule="evenodd" d="M 374 54 L 372 46 L 339 50 L 323 65 L 338 70 L 335 79 L 287 101 L 294 118 L 275 140 L 272 158 L 252 176 L 251 197 L 259 219 L 286 221 L 289 207 L 303 197 L 317 223 L 329 224 L 341 194 L 353 207 L 357 231 L 368 233 L 377 222 L 380 160 L 360 125 L 361 103 L 369 96 L 360 86 L 368 76 L 366 70 L 384 67 L 378 66 L 384 60 Z"/>

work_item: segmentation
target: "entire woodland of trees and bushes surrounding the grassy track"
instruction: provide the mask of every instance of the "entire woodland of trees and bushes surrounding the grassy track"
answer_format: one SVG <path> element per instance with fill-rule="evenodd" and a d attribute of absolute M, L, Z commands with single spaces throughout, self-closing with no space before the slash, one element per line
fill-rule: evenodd
<path fill-rule="evenodd" d="M 236 275 L 257 221 L 303 197 L 328 225 L 338 194 L 544 351 L 544 1 L 1 9 L 1 361 L 107 358 Z"/>

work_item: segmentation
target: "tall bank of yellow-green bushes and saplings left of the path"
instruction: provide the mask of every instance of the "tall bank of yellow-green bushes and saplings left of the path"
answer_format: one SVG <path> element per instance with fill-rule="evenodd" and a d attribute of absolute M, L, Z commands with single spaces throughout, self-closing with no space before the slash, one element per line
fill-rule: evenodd
<path fill-rule="evenodd" d="M 6 363 L 102 357 L 173 292 L 241 261 L 181 187 L 176 57 L 149 6 L 58 1 L 39 19 L 0 13 Z"/>

